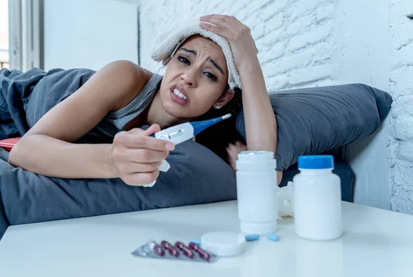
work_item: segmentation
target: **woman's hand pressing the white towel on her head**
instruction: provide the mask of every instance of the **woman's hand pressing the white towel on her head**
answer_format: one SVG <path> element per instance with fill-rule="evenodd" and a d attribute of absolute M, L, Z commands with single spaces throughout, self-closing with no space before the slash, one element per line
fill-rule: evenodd
<path fill-rule="evenodd" d="M 211 14 L 201 16 L 200 21 L 213 23 L 200 23 L 200 27 L 219 36 L 226 38 L 231 46 L 235 67 L 238 70 L 248 66 L 251 61 L 257 62 L 257 47 L 251 36 L 250 29 L 238 21 L 234 16 Z"/>

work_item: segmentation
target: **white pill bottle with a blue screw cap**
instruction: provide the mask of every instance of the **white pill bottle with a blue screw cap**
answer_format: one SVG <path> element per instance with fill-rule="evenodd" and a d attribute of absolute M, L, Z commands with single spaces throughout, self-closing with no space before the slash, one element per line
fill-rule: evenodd
<path fill-rule="evenodd" d="M 300 156 L 294 183 L 297 235 L 327 241 L 341 236 L 341 181 L 330 155 Z"/>

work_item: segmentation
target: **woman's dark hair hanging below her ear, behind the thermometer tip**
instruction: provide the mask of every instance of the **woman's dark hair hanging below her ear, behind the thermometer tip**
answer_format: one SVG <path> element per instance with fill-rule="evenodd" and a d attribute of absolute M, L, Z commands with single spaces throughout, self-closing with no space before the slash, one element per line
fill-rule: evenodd
<path fill-rule="evenodd" d="M 226 89 L 229 89 L 229 86 L 227 86 Z M 197 120 L 207 120 L 231 113 L 231 118 L 205 129 L 196 136 L 196 142 L 209 148 L 209 150 L 213 151 L 213 153 L 218 155 L 227 164 L 229 164 L 229 157 L 226 148 L 229 144 L 234 144 L 237 140 L 245 144 L 244 138 L 235 129 L 237 114 L 242 107 L 242 91 L 238 88 L 235 88 L 234 91 L 233 98 L 226 103 L 222 109 L 212 107 L 207 113 L 197 118 Z"/>

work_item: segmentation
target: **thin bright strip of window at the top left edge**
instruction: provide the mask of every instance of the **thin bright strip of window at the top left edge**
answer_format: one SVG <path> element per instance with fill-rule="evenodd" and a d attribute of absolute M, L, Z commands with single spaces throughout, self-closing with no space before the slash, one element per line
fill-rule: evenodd
<path fill-rule="evenodd" d="M 0 69 L 10 69 L 8 0 L 0 0 Z"/>

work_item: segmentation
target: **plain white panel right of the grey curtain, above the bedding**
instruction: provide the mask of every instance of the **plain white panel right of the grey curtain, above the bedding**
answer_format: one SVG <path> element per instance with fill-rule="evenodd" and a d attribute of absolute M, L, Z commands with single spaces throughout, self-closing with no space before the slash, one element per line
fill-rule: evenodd
<path fill-rule="evenodd" d="M 98 70 L 113 60 L 138 63 L 138 8 L 112 0 L 45 0 L 44 67 Z"/>

